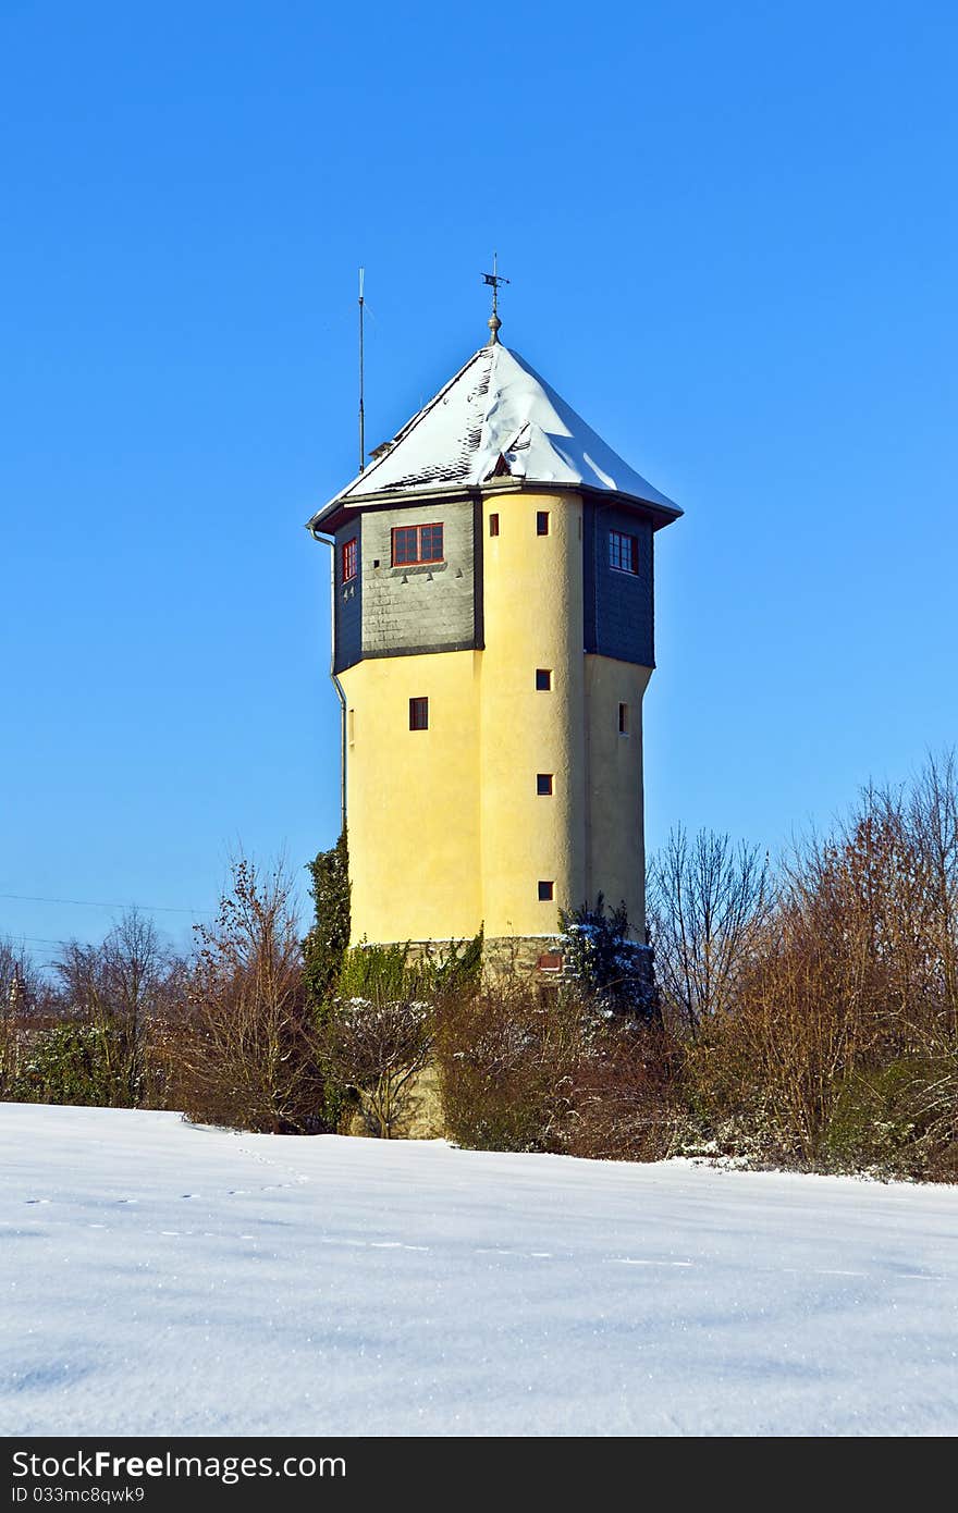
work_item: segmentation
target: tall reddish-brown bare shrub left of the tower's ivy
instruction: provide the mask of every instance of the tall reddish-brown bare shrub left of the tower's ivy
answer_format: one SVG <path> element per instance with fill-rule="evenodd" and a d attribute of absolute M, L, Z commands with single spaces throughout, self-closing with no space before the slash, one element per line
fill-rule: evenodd
<path fill-rule="evenodd" d="M 319 1126 L 322 1079 L 291 893 L 283 865 L 260 871 L 241 856 L 215 924 L 197 926 L 179 1049 L 195 1117 L 271 1133 Z"/>

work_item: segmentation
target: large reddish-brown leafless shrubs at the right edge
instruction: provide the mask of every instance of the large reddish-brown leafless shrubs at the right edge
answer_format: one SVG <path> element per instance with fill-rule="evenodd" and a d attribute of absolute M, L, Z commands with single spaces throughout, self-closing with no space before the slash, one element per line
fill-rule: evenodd
<path fill-rule="evenodd" d="M 726 1148 L 810 1165 L 950 1170 L 958 1133 L 953 761 L 869 788 L 798 846 L 719 1014 L 686 1053 Z"/>

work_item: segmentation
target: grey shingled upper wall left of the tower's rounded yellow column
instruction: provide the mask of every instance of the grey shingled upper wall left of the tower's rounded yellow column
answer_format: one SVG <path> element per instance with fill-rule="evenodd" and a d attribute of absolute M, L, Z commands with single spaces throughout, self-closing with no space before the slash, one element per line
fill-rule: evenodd
<path fill-rule="evenodd" d="M 397 525 L 442 523 L 440 563 L 392 566 Z M 365 657 L 466 651 L 481 645 L 471 499 L 363 510 L 336 534 L 336 672 Z M 359 578 L 342 584 L 342 543 L 359 539 Z M 362 584 L 362 589 L 360 589 Z"/>

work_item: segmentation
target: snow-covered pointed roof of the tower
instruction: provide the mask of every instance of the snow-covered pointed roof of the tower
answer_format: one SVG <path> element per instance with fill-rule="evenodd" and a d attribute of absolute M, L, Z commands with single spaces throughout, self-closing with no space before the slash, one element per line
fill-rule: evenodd
<path fill-rule="evenodd" d="M 350 505 L 378 495 L 433 495 L 478 487 L 509 475 L 624 495 L 667 523 L 683 511 L 613 452 L 518 353 L 498 342 L 480 348 L 395 436 L 369 468 L 319 510 L 310 527 L 331 523 Z"/>

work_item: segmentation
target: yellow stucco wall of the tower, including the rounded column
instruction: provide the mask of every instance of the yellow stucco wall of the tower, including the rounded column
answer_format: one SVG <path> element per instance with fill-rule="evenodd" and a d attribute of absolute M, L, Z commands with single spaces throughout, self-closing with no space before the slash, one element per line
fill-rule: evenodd
<path fill-rule="evenodd" d="M 480 519 L 484 648 L 363 660 L 341 675 L 354 943 L 480 926 L 487 938 L 548 938 L 560 908 L 599 890 L 625 900 L 642 938 L 651 669 L 583 651 L 581 496 L 490 489 Z M 428 729 L 409 729 L 410 697 L 428 699 Z M 539 794 L 540 773 L 551 794 Z"/>

